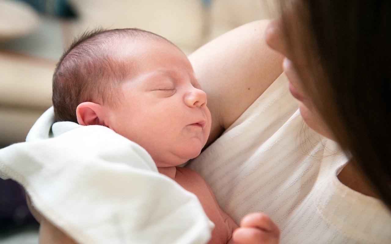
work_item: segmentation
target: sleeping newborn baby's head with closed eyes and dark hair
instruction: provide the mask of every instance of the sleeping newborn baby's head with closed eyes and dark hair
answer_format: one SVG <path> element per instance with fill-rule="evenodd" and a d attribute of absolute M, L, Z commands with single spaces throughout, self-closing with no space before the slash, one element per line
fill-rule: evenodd
<path fill-rule="evenodd" d="M 196 157 L 210 132 L 206 94 L 186 55 L 139 29 L 84 35 L 57 64 L 57 121 L 103 125 L 145 148 L 158 167 Z"/>

